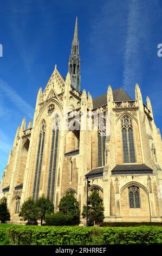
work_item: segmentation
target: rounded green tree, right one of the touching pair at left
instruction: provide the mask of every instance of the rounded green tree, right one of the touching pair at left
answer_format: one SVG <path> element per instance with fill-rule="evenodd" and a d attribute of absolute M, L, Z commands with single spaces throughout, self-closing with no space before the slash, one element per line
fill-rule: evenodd
<path fill-rule="evenodd" d="M 37 212 L 37 220 L 41 220 L 41 225 L 45 220 L 45 215 L 54 212 L 53 203 L 49 200 L 48 197 L 44 197 L 44 195 L 36 200 L 35 207 Z"/>

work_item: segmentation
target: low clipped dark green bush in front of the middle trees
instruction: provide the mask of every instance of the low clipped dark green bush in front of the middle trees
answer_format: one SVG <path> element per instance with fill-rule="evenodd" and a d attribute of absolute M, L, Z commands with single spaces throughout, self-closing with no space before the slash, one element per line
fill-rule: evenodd
<path fill-rule="evenodd" d="M 46 225 L 72 225 L 73 216 L 64 215 L 62 212 L 56 212 L 56 214 L 46 214 Z"/>

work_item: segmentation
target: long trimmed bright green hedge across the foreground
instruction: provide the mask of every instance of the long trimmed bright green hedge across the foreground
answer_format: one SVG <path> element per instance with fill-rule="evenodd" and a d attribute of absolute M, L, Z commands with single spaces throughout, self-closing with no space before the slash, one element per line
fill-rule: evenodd
<path fill-rule="evenodd" d="M 119 245 L 162 243 L 161 227 L 11 227 L 11 245 Z"/>

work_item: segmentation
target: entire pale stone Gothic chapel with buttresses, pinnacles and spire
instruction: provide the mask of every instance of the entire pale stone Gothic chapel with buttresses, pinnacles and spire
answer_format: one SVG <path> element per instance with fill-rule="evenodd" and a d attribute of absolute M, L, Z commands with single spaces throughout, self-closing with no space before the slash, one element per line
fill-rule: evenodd
<path fill-rule="evenodd" d="M 21 223 L 24 200 L 42 194 L 57 211 L 73 192 L 82 210 L 87 176 L 88 193 L 95 188 L 103 199 L 104 221 L 162 222 L 162 143 L 146 102 L 138 84 L 135 100 L 111 86 L 95 99 L 81 92 L 76 16 L 66 79 L 55 65 L 38 91 L 33 124 L 24 118 L 18 126 L 4 169 L 0 200 L 7 201 L 11 222 Z"/>

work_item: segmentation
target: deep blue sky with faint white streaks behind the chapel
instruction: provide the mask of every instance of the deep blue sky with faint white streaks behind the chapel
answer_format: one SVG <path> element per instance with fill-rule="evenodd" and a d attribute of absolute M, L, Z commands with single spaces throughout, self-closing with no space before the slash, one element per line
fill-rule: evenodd
<path fill-rule="evenodd" d="M 79 15 L 81 89 L 93 97 L 139 83 L 161 129 L 162 2 L 160 0 L 15 0 L 0 3 L 0 177 L 17 126 L 33 118 L 38 89 L 55 63 L 66 77 Z M 161 129 L 162 130 L 162 129 Z"/>

